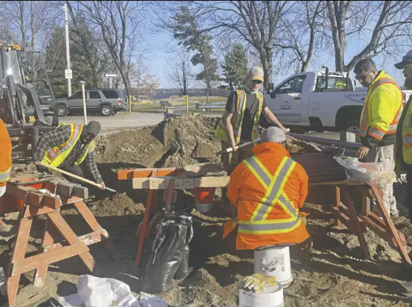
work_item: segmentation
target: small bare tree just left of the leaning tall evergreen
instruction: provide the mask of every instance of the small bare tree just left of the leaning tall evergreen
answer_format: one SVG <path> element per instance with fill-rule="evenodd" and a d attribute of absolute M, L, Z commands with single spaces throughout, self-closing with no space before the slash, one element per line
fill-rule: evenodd
<path fill-rule="evenodd" d="M 180 94 L 187 95 L 187 89 L 189 89 L 189 86 L 194 81 L 194 76 L 191 75 L 189 53 L 180 53 L 178 58 L 169 64 L 166 77 L 173 87 L 180 89 Z"/>

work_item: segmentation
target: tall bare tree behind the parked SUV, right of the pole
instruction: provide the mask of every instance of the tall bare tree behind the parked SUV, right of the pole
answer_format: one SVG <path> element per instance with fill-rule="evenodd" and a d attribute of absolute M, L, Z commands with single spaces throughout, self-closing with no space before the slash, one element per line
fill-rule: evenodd
<path fill-rule="evenodd" d="M 139 21 L 144 20 L 144 8 L 143 1 L 76 1 L 74 8 L 82 11 L 92 24 L 101 29 L 103 40 L 119 69 L 128 96 L 132 94 L 132 90 L 128 76 L 130 54 L 126 47 L 130 40 L 136 39 L 136 33 L 140 33 Z"/>

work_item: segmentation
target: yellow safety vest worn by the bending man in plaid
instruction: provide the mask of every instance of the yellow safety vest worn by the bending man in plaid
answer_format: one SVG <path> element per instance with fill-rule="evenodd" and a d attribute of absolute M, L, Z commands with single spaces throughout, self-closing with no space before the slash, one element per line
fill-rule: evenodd
<path fill-rule="evenodd" d="M 74 145 L 80 139 L 80 136 L 82 134 L 83 125 L 61 123 L 60 125 L 58 125 L 57 128 L 61 127 L 62 125 L 70 126 L 71 128 L 70 137 L 67 141 L 65 141 L 65 143 L 62 143 L 61 145 L 55 146 L 49 150 L 46 150 L 46 152 L 44 152 L 44 158 L 42 162 L 49 166 L 54 166 L 54 167 L 60 166 L 60 164 L 62 164 L 63 161 L 65 161 L 65 159 L 69 156 L 71 150 L 73 150 Z M 80 155 L 80 157 L 78 157 L 75 164 L 76 165 L 81 164 L 85 160 L 87 153 L 93 152 L 94 148 L 96 148 L 96 145 L 94 141 L 91 141 L 89 144 L 87 144 L 87 149 L 83 152 L 82 155 Z"/>

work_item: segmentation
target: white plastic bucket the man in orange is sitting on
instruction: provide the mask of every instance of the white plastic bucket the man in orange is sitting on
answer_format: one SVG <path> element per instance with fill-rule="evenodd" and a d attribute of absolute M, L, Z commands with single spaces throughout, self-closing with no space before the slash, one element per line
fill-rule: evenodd
<path fill-rule="evenodd" d="M 275 277 L 284 288 L 293 281 L 289 246 L 268 246 L 255 249 L 255 273 Z"/>

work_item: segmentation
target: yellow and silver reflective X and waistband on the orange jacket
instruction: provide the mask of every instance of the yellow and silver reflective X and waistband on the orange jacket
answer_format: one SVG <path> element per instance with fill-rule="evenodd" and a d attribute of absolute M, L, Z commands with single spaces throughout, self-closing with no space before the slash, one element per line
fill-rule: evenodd
<path fill-rule="evenodd" d="M 264 198 L 259 201 L 255 211 L 248 220 L 239 219 L 239 233 L 243 234 L 282 234 L 293 231 L 299 227 L 298 210 L 284 192 L 289 175 L 293 171 L 296 162 L 289 157 L 284 157 L 275 175 L 271 175 L 266 167 L 254 156 L 242 162 L 255 175 L 256 179 L 266 189 Z M 283 213 L 278 214 L 277 219 L 268 219 L 268 214 L 275 207 L 281 207 Z"/>

